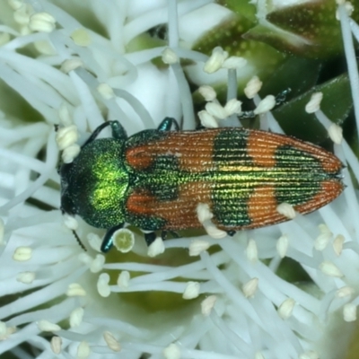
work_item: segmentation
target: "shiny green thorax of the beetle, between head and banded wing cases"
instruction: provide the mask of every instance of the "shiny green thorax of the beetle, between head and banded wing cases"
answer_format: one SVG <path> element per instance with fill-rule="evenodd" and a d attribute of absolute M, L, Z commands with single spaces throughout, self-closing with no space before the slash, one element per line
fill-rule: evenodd
<path fill-rule="evenodd" d="M 97 228 L 124 222 L 128 174 L 123 142 L 114 138 L 93 141 L 83 147 L 73 166 L 76 214 Z"/>

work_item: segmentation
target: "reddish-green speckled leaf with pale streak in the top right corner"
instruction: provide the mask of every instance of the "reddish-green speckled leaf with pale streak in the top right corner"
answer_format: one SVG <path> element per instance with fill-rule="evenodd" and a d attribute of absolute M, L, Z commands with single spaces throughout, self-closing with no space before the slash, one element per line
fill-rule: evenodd
<path fill-rule="evenodd" d="M 286 53 L 328 58 L 343 52 L 340 22 L 334 1 L 311 1 L 282 7 L 250 29 L 246 39 L 256 39 Z"/>

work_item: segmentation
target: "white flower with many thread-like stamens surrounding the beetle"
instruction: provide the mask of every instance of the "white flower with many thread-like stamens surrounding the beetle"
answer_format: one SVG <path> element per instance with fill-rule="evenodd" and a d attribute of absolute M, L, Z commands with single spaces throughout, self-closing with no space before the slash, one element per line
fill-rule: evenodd
<path fill-rule="evenodd" d="M 59 136 L 70 148 L 66 162 L 79 151 L 74 125 L 80 144 L 105 118 L 117 118 L 128 135 L 166 116 L 183 116 L 183 128 L 194 128 L 180 63 L 160 69 L 151 61 L 164 50 L 169 55 L 167 48 L 171 59 L 202 67 L 207 59 L 180 48 L 175 1 L 64 3 L 67 11 L 46 0 L 0 7 L 0 18 L 4 10 L 14 19 L 0 27 L 8 35 L 0 37 L 0 78 L 18 93 L 12 106 L 26 107 L 31 117 L 0 100 L 0 354 L 21 356 L 27 343 L 29 357 L 340 357 L 351 334 L 346 322 L 356 319 L 359 303 L 359 206 L 347 170 L 344 194 L 316 213 L 232 238 L 161 241 L 165 252 L 156 258 L 147 256 L 137 233 L 130 252 L 111 250 L 104 258 L 103 232 L 80 218 L 63 224 L 54 125 L 71 134 Z M 204 4 L 177 6 L 182 14 Z M 86 25 L 71 13 L 96 21 Z M 339 14 L 346 34 L 346 13 Z M 167 46 L 127 52 L 167 18 Z M 258 95 L 253 100 L 260 102 Z M 329 130 L 328 118 L 316 115 Z M 263 116 L 280 131 L 270 113 Z M 335 130 L 333 138 L 341 138 Z M 359 163 L 346 142 L 335 151 L 358 180 Z M 277 276 L 284 257 L 300 263 L 312 285 Z M 336 340 L 333 328 L 342 328 Z"/>

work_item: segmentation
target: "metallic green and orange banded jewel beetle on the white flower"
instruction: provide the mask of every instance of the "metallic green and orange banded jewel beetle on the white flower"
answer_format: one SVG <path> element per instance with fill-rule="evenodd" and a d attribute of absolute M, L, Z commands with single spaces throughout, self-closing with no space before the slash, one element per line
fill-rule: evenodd
<path fill-rule="evenodd" d="M 105 127 L 112 137 L 97 138 Z M 174 127 L 174 129 L 172 129 Z M 127 137 L 118 121 L 101 124 L 74 162 L 60 167 L 61 209 L 112 235 L 125 223 L 154 231 L 200 228 L 198 204 L 228 233 L 286 221 L 288 203 L 307 214 L 343 191 L 342 163 L 315 144 L 243 127 L 180 131 L 173 118 Z"/>

